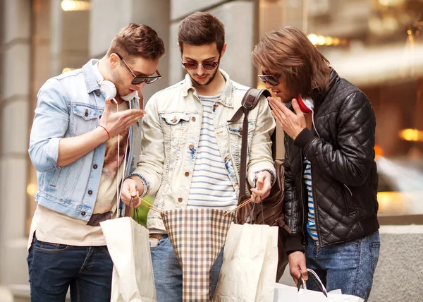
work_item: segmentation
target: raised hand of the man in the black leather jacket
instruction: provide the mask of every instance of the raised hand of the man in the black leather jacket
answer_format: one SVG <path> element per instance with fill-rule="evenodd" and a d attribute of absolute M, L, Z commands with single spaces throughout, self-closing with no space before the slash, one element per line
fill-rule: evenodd
<path fill-rule="evenodd" d="M 269 100 L 271 109 L 273 109 L 271 115 L 282 126 L 283 131 L 295 140 L 302 129 L 307 127 L 304 114 L 298 106 L 297 99 L 293 99 L 292 101 L 295 114 L 285 104 L 279 102 L 274 97 L 268 97 L 267 99 Z"/>

